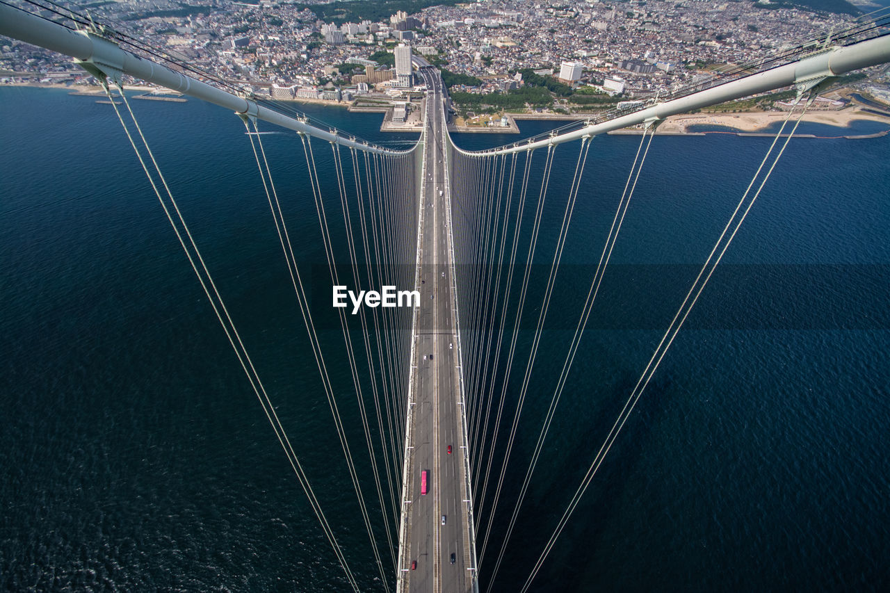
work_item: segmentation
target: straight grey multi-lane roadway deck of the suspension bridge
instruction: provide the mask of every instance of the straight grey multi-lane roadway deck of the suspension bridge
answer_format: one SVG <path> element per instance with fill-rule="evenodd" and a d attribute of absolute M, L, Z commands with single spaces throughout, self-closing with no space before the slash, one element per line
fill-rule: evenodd
<path fill-rule="evenodd" d="M 421 69 L 426 98 L 420 295 L 415 325 L 407 487 L 402 508 L 398 591 L 468 592 L 475 589 L 475 558 L 465 463 L 463 394 L 452 279 L 448 160 L 443 90 L 438 71 Z M 449 447 L 451 452 L 449 453 Z M 421 473 L 427 493 L 421 494 Z M 444 524 L 442 523 L 444 517 Z M 451 555 L 454 555 L 454 563 Z M 412 569 L 413 563 L 416 568 Z"/>

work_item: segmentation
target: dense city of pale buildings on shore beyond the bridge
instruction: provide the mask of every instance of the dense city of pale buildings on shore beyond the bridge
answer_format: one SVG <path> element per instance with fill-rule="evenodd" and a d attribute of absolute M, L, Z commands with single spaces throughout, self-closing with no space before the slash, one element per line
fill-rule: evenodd
<path fill-rule="evenodd" d="M 461 115 L 603 110 L 669 93 L 792 42 L 830 38 L 854 19 L 769 0 L 446 0 L 384 16 L 402 4 L 409 5 L 99 0 L 80 9 L 278 100 L 409 104 L 425 90 L 411 71 L 412 56 L 420 56 L 442 69 L 454 102 L 465 108 Z M 93 81 L 58 55 L 3 40 L 0 82 Z M 881 93 L 877 86 L 872 96 Z M 403 121 L 409 112 L 392 117 Z"/>

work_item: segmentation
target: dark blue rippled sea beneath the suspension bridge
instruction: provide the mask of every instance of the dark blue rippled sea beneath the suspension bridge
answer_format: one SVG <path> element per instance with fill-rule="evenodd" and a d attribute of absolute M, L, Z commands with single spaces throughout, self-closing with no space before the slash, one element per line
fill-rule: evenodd
<path fill-rule="evenodd" d="M 244 126 L 196 101 L 132 103 L 361 589 L 383 590 Z M 31 88 L 0 89 L 0 105 L 0 588 L 346 590 L 110 106 Z M 405 139 L 378 132 L 379 115 L 301 109 L 369 140 Z M 548 126 L 521 123 L 523 135 Z M 297 259 L 323 264 L 300 142 L 263 143 Z M 601 136 L 588 154 L 483 588 L 522 586 L 770 140 L 652 142 L 490 582 L 638 143 Z M 555 154 L 555 172 L 573 169 L 577 148 Z M 542 214 L 533 263 L 545 269 L 565 177 Z M 322 183 L 336 208 L 336 185 Z M 888 188 L 890 137 L 789 143 L 532 590 L 890 589 Z M 539 287 L 530 295 L 526 357 Z M 343 340 L 322 334 L 360 449 Z"/>

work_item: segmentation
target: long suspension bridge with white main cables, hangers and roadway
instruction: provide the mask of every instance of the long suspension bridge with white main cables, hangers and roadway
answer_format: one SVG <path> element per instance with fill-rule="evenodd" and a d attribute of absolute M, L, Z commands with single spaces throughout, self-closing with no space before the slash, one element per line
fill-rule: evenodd
<path fill-rule="evenodd" d="M 838 77 L 890 61 L 890 20 L 886 13 L 877 13 L 833 32 L 828 38 L 784 48 L 762 60 L 725 69 L 697 85 L 653 96 L 631 109 L 607 111 L 542 136 L 480 151 L 462 150 L 451 142 L 446 129 L 448 97 L 441 77 L 432 67 L 421 66 L 418 75 L 427 89 L 422 107 L 425 126 L 413 147 L 394 150 L 257 97 L 134 37 L 98 25 L 88 15 L 62 4 L 50 0 L 27 4 L 30 10 L 0 3 L 0 34 L 68 55 L 101 81 L 334 551 L 344 582 L 356 591 L 360 585 L 328 523 L 323 496 L 312 489 L 174 199 L 175 188 L 167 184 L 142 134 L 137 114 L 123 92 L 125 76 L 221 105 L 244 122 L 287 263 L 289 283 L 310 338 L 312 359 L 319 370 L 359 501 L 380 586 L 390 590 L 394 574 L 398 591 L 434 592 L 477 591 L 483 570 L 487 581 L 493 582 L 502 569 L 507 542 L 526 502 L 538 459 L 547 446 L 554 412 L 581 347 L 603 274 L 659 123 L 671 115 L 756 93 L 789 86 L 797 89 L 796 109 L 789 111 L 748 187 L 740 191 L 738 205 L 602 445 L 593 459 L 585 460 L 586 472 L 577 490 L 553 532 L 547 534 L 538 561 L 529 567 L 522 588 L 525 591 L 532 586 L 815 96 Z M 377 308 L 378 302 L 370 308 L 357 305 L 354 312 L 350 307 L 336 311 L 354 405 L 360 412 L 367 464 L 374 477 L 370 493 L 368 484 L 360 480 L 365 451 L 360 453 L 351 444 L 340 414 L 344 406 L 353 405 L 352 400 L 347 401 L 332 386 L 304 272 L 301 275 L 295 257 L 295 237 L 288 232 L 272 167 L 263 148 L 258 126 L 261 121 L 297 134 L 295 142 L 311 180 L 306 199 L 311 193 L 331 287 L 368 290 L 395 286 L 409 288 L 419 296 L 411 307 Z M 542 348 L 550 347 L 543 343 L 544 327 L 563 248 L 570 226 L 581 227 L 583 232 L 584 222 L 575 220 L 572 224 L 572 216 L 589 183 L 584 176 L 587 154 L 596 135 L 628 126 L 642 128 L 639 147 L 586 296 L 580 310 L 573 314 L 577 322 L 570 332 L 568 350 L 552 393 L 535 394 L 549 395 L 550 402 L 530 462 L 524 467 L 518 499 L 505 512 L 498 504 L 502 501 L 523 404 L 531 393 L 536 358 Z M 562 145 L 567 146 L 560 148 Z M 570 170 L 554 171 L 556 150 L 571 151 L 574 166 Z M 333 170 L 319 170 L 317 163 L 322 151 L 330 151 Z M 548 191 L 554 175 L 569 182 L 565 195 Z M 333 197 L 323 192 L 322 179 L 328 177 L 336 179 L 337 192 Z M 562 222 L 554 250 L 545 256 L 549 264 L 543 277 L 533 279 L 531 266 L 523 264 L 541 259 L 536 250 L 546 200 L 559 200 Z M 337 261 L 338 248 L 331 239 L 330 229 L 341 222 L 349 255 L 347 264 Z M 540 286 L 532 289 L 531 285 L 538 281 Z M 541 300 L 530 304 L 530 294 L 541 290 Z M 518 343 L 521 321 L 529 317 L 534 330 L 525 354 L 526 349 Z M 511 387 L 515 385 L 518 389 Z M 511 389 L 514 391 L 508 394 Z M 513 401 L 513 406 L 507 406 L 507 402 Z M 496 455 L 498 447 L 502 451 Z M 498 510 L 498 521 L 506 524 L 502 541 L 491 537 Z M 480 522 L 477 517 L 484 520 Z M 386 526 L 383 533 L 373 526 L 378 521 Z"/>

